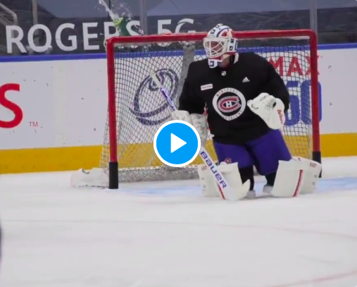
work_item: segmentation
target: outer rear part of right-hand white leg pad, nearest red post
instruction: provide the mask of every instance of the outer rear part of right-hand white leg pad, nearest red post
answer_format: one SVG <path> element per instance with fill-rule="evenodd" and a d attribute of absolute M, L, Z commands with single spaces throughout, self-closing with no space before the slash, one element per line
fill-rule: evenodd
<path fill-rule="evenodd" d="M 311 159 L 304 159 L 303 157 L 294 157 L 294 160 L 300 161 L 305 165 L 305 175 L 303 176 L 303 184 L 300 193 L 313 193 L 320 178 L 322 164 L 317 161 L 312 161 Z"/>

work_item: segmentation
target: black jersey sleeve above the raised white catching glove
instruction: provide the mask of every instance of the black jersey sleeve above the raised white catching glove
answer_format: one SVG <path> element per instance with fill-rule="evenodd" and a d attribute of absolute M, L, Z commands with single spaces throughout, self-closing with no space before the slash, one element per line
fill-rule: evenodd
<path fill-rule="evenodd" d="M 267 65 L 268 75 L 263 92 L 267 92 L 268 94 L 281 99 L 284 103 L 284 111 L 287 111 L 290 104 L 290 96 L 287 87 L 285 86 L 284 81 L 280 75 L 277 73 L 277 71 L 275 71 L 274 66 L 266 60 L 265 62 Z"/>

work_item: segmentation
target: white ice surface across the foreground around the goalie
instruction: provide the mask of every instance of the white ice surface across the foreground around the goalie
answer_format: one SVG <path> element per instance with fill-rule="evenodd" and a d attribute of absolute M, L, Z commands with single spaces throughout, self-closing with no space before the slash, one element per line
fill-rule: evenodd
<path fill-rule="evenodd" d="M 313 195 L 240 202 L 203 198 L 197 181 L 0 176 L 0 286 L 355 287 L 357 157 L 323 166 Z"/>

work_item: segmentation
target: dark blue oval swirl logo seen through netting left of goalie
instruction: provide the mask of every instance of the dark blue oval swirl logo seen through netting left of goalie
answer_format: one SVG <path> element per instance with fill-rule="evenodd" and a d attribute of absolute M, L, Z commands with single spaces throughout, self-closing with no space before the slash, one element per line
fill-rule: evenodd
<path fill-rule="evenodd" d="M 156 75 L 168 92 L 170 99 L 175 102 L 177 95 L 179 78 L 177 73 L 169 68 L 162 68 L 156 71 Z M 165 123 L 171 116 L 170 106 L 158 93 L 154 81 L 150 75 L 146 76 L 140 83 L 134 94 L 134 109 L 130 108 L 137 121 L 145 126 L 156 126 Z M 123 95 L 125 97 L 125 94 Z"/>

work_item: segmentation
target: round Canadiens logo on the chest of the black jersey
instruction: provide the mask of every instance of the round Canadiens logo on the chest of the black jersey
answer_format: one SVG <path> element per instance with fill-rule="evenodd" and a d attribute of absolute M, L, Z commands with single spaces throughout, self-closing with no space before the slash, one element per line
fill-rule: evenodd
<path fill-rule="evenodd" d="M 213 107 L 226 121 L 232 121 L 243 114 L 246 109 L 246 99 L 239 90 L 226 87 L 213 97 Z"/>

